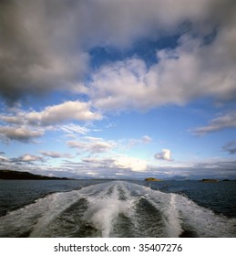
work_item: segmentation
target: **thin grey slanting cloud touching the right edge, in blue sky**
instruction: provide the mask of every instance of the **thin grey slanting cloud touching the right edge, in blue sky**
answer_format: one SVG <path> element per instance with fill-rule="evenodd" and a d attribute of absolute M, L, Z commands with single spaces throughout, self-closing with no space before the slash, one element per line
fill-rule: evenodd
<path fill-rule="evenodd" d="M 194 129 L 193 133 L 196 135 L 204 135 L 206 133 L 218 132 L 233 127 L 236 127 L 236 111 L 228 112 L 212 119 L 208 125 Z"/>

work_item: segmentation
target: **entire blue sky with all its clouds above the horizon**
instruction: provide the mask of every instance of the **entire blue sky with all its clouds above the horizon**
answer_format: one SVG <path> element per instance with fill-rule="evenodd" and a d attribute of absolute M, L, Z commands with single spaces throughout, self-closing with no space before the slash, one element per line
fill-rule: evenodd
<path fill-rule="evenodd" d="M 2 0 L 0 169 L 236 178 L 235 0 Z"/>

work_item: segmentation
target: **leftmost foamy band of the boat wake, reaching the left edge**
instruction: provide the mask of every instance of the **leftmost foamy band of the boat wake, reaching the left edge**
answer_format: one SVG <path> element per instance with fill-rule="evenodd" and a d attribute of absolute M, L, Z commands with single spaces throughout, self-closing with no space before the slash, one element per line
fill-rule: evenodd
<path fill-rule="evenodd" d="M 77 199 L 77 191 L 55 193 L 9 212 L 0 218 L 0 237 L 9 232 L 11 237 L 21 236 L 24 232 L 30 233 L 31 237 L 43 237 L 46 226 Z"/>

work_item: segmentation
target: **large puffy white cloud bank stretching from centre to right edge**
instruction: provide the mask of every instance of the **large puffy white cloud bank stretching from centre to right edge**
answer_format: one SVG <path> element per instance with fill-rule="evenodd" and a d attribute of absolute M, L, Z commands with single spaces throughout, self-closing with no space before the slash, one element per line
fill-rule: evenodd
<path fill-rule="evenodd" d="M 159 50 L 149 69 L 142 59 L 104 65 L 87 86 L 91 101 L 104 111 L 149 110 L 159 105 L 183 105 L 210 96 L 220 101 L 236 95 L 235 28 L 221 29 L 215 40 L 180 37 L 177 48 Z"/>

